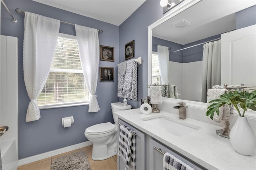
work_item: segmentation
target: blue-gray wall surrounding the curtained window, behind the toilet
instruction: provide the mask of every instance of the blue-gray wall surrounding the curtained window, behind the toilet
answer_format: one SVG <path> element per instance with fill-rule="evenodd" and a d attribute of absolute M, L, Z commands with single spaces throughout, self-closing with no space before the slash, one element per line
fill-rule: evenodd
<path fill-rule="evenodd" d="M 112 111 L 110 103 L 118 102 L 117 93 L 117 69 L 119 63 L 119 29 L 118 26 L 84 17 L 78 14 L 53 8 L 31 0 L 4 0 L 18 23 L 14 24 L 5 8 L 1 6 L 1 35 L 14 36 L 18 38 L 18 144 L 19 159 L 48 152 L 58 148 L 63 148 L 73 144 L 87 141 L 84 130 L 97 123 L 112 122 Z M 97 86 L 97 99 L 100 111 L 89 113 L 88 105 L 66 107 L 58 109 L 41 110 L 41 118 L 38 121 L 26 122 L 26 111 L 30 102 L 23 77 L 23 35 L 24 35 L 24 14 L 17 14 L 16 8 L 47 17 L 63 20 L 70 23 L 79 24 L 91 28 L 102 29 L 99 34 L 100 45 L 114 47 L 115 61 L 100 61 L 100 67 L 114 67 L 114 82 L 99 82 Z M 60 32 L 75 35 L 74 26 L 61 24 Z M 72 127 L 63 128 L 62 117 L 74 116 Z"/>

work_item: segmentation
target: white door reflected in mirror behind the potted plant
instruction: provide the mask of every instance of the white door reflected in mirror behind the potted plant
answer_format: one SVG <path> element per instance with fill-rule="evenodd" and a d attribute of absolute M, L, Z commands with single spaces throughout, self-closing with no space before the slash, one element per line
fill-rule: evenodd
<path fill-rule="evenodd" d="M 221 35 L 221 85 L 256 85 L 256 25 Z"/>

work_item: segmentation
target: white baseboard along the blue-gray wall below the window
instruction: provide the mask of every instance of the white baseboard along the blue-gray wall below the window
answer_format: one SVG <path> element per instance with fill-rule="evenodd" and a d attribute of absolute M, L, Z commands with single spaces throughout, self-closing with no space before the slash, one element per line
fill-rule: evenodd
<path fill-rule="evenodd" d="M 60 149 L 52 150 L 52 151 L 49 151 L 49 152 L 45 152 L 45 153 L 42 153 L 42 154 L 38 154 L 38 155 L 30 156 L 30 157 L 27 157 L 27 158 L 23 158 L 23 159 L 19 160 L 18 166 L 21 166 L 21 165 L 24 165 L 24 164 L 29 164 L 31 162 L 35 162 L 35 161 L 38 161 L 38 160 L 49 158 L 51 156 L 55 156 L 55 155 L 58 155 L 58 154 L 62 154 L 62 153 L 65 153 L 65 152 L 76 150 L 76 149 L 79 149 L 79 148 L 82 148 L 82 147 L 85 147 L 85 146 L 89 146 L 89 145 L 92 145 L 92 142 L 86 141 L 86 142 L 74 144 L 74 145 L 71 145 L 71 146 L 67 146 L 67 147 L 64 147 L 64 148 L 60 148 Z"/>

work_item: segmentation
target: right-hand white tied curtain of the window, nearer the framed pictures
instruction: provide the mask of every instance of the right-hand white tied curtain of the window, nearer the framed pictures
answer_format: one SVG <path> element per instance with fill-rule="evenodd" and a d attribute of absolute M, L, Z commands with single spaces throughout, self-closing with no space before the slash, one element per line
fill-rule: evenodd
<path fill-rule="evenodd" d="M 100 107 L 96 99 L 96 87 L 98 82 L 100 45 L 98 30 L 76 25 L 76 38 L 84 79 L 90 93 L 89 112 L 98 112 Z"/>

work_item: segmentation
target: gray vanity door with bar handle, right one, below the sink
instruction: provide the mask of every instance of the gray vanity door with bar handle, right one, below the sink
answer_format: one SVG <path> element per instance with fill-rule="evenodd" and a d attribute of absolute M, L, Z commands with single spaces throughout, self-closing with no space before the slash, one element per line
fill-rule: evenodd
<path fill-rule="evenodd" d="M 160 152 L 158 151 L 160 150 Z M 162 153 L 161 153 L 162 152 Z M 164 159 L 164 153 L 170 153 L 176 158 L 180 159 L 187 165 L 191 166 L 195 170 L 203 170 L 204 168 L 200 167 L 196 163 L 186 159 L 184 156 L 174 152 L 173 150 L 167 148 L 166 146 L 160 144 L 156 140 L 153 140 L 152 138 L 149 139 L 149 170 L 162 170 L 164 168 L 163 166 L 163 159 Z"/>

